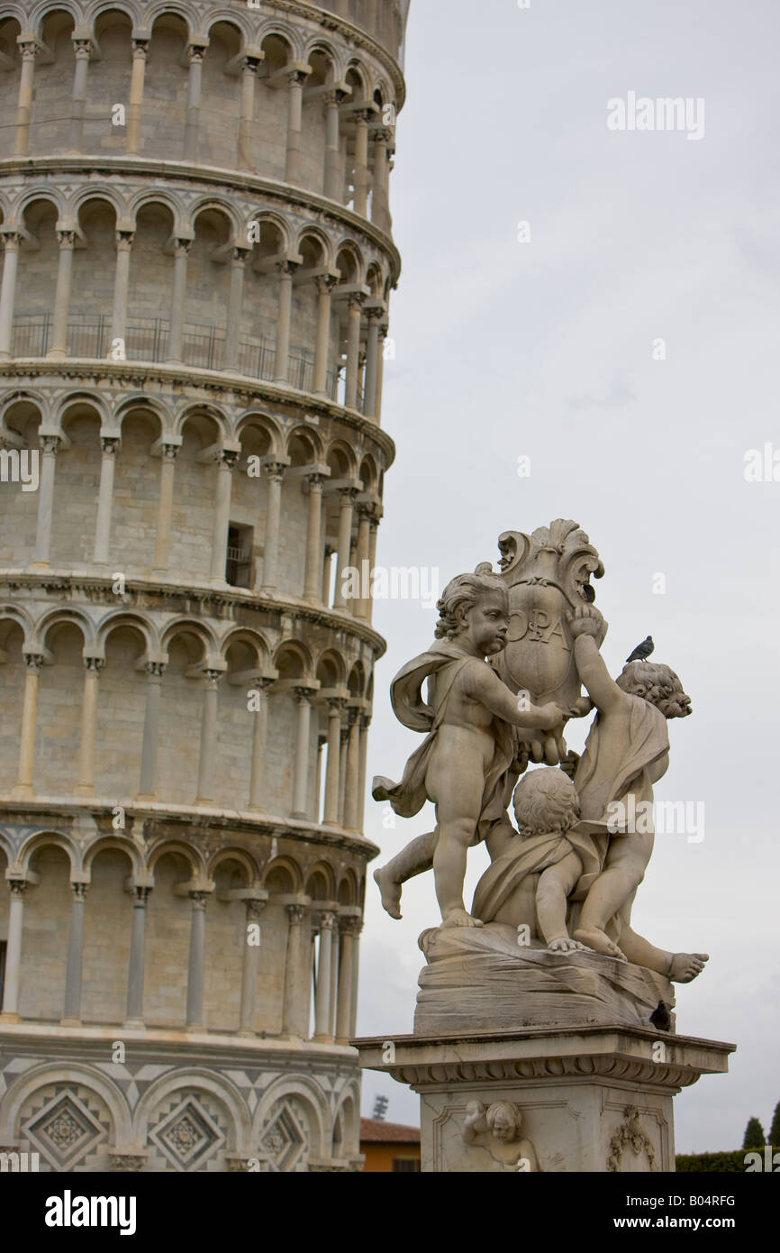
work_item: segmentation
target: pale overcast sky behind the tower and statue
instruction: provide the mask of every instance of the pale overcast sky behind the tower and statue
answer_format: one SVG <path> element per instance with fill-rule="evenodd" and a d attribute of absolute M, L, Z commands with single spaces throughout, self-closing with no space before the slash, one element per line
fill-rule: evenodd
<path fill-rule="evenodd" d="M 780 1100 L 780 482 L 744 479 L 747 449 L 780 449 L 779 40 L 772 0 L 413 0 L 392 184 L 404 272 L 383 421 L 398 456 L 378 561 L 438 566 L 443 586 L 497 561 L 501 531 L 575 519 L 606 565 L 612 673 L 651 633 L 692 697 L 656 799 L 704 801 L 705 838 L 657 837 L 634 920 L 711 955 L 677 986 L 677 1030 L 739 1051 L 676 1098 L 677 1152 L 739 1148 Z M 630 90 L 704 96 L 704 138 L 607 130 L 607 100 Z M 388 653 L 369 778 L 399 778 L 421 742 L 388 687 L 434 621 L 376 605 Z M 571 747 L 585 729 L 570 724 Z M 426 806 L 384 831 L 369 798 L 372 868 L 432 818 Z M 470 893 L 486 862 L 470 852 Z M 402 922 L 373 881 L 367 897 L 358 1034 L 391 1039 L 412 1030 L 432 875 L 404 888 Z M 366 1114 L 384 1093 L 389 1120 L 417 1121 L 392 1079 L 366 1073 L 363 1091 Z"/>

